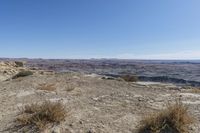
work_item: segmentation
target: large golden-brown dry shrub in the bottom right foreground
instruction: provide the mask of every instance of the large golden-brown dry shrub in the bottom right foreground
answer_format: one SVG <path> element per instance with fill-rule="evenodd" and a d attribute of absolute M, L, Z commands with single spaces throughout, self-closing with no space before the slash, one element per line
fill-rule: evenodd
<path fill-rule="evenodd" d="M 188 108 L 177 101 L 160 113 L 145 117 L 138 133 L 188 133 L 192 123 L 193 118 L 188 114 Z"/>

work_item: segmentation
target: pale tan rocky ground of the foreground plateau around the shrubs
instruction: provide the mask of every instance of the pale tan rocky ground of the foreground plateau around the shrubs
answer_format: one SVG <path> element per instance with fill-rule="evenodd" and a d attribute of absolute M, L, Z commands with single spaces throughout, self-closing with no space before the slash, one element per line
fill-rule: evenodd
<path fill-rule="evenodd" d="M 47 100 L 62 102 L 68 113 L 64 121 L 50 125 L 42 132 L 137 133 L 144 116 L 161 111 L 177 99 L 181 99 L 188 107 L 189 114 L 195 118 L 189 132 L 200 132 L 200 92 L 193 91 L 198 87 L 194 89 L 171 83 L 126 82 L 118 77 L 108 78 L 98 73 L 49 71 L 50 68 L 42 70 L 42 66 L 33 68 L 36 64 L 28 63 L 26 66 L 18 66 L 14 61 L 0 62 L 2 133 L 25 132 L 22 128 L 16 128 L 15 120 L 20 109 Z M 56 69 L 56 66 L 51 69 Z M 12 78 L 25 70 L 32 71 L 33 75 Z M 194 76 L 193 80 L 198 81 L 197 77 Z M 51 89 L 41 89 L 41 85 L 49 85 Z M 26 132 L 33 131 L 30 129 Z"/>

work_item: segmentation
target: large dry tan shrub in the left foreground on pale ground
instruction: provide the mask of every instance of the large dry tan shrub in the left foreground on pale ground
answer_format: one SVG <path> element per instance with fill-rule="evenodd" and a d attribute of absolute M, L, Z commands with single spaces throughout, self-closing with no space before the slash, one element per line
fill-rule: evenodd
<path fill-rule="evenodd" d="M 22 108 L 16 122 L 21 129 L 42 131 L 48 124 L 63 121 L 66 114 L 62 103 L 45 101 L 42 104 L 31 104 Z"/>

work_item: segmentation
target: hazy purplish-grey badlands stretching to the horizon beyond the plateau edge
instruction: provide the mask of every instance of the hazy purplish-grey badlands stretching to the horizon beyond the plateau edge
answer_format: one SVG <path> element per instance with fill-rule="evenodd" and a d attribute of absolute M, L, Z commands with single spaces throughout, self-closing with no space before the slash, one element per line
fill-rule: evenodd
<path fill-rule="evenodd" d="M 1 59 L 12 60 L 12 59 Z M 20 59 L 29 67 L 57 72 L 75 71 L 101 75 L 135 74 L 144 81 L 200 86 L 200 61 L 119 59 Z"/>

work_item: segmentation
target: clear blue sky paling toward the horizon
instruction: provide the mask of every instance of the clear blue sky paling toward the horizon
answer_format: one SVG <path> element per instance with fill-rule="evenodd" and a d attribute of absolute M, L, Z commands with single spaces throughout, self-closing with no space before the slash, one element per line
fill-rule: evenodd
<path fill-rule="evenodd" d="M 200 0 L 0 0 L 0 57 L 200 59 Z"/>

